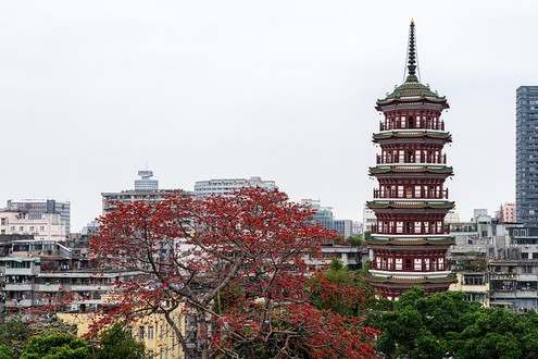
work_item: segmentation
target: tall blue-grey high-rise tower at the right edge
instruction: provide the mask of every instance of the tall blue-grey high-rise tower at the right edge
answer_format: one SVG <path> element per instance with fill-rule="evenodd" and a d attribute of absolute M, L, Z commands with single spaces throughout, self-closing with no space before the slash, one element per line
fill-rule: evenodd
<path fill-rule="evenodd" d="M 516 90 L 516 220 L 538 226 L 538 86 Z"/>

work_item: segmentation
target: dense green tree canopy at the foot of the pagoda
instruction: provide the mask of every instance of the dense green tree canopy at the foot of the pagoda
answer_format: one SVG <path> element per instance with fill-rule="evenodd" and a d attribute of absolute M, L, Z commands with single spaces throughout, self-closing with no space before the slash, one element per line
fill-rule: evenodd
<path fill-rule="evenodd" d="M 538 315 L 483 308 L 463 294 L 412 288 L 380 314 L 377 350 L 387 358 L 536 358 Z"/>

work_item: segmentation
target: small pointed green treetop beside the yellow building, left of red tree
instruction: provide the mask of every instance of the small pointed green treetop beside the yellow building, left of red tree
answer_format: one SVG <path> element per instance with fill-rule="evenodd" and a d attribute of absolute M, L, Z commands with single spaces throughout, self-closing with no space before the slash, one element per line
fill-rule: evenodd
<path fill-rule="evenodd" d="M 101 335 L 101 346 L 92 359 L 142 359 L 146 358 L 143 343 L 135 341 L 120 323 L 115 323 Z"/>

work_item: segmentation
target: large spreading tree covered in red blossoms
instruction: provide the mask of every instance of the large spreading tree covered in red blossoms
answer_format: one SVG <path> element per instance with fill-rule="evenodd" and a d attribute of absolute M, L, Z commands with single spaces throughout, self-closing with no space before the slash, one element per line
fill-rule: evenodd
<path fill-rule="evenodd" d="M 260 352 L 284 358 L 291 350 L 370 357 L 372 333 L 359 319 L 309 301 L 306 262 L 322 239 L 337 236 L 311 225 L 311 216 L 284 193 L 260 188 L 200 201 L 171 196 L 157 205 L 117 203 L 101 219 L 90 246 L 101 268 L 136 270 L 140 276 L 115 283 L 122 301 L 111 314 L 163 313 L 192 358 Z M 182 331 L 176 310 L 196 325 Z M 193 336 L 196 350 L 187 345 Z"/>

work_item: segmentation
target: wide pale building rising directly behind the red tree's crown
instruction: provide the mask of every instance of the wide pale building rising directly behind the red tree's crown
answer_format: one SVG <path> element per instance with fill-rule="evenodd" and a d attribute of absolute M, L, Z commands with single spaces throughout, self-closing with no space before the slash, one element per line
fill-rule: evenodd
<path fill-rule="evenodd" d="M 203 199 L 212 195 L 226 195 L 242 187 L 260 187 L 264 189 L 277 189 L 274 181 L 263 181 L 261 177 L 247 178 L 223 178 L 198 181 L 195 184 L 195 195 L 197 199 Z"/>

